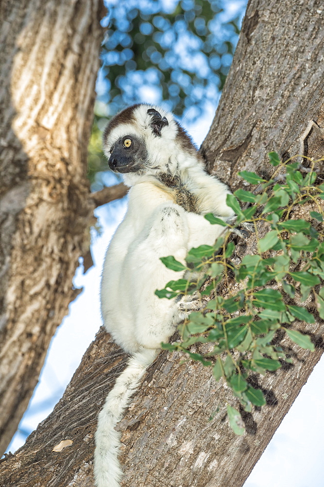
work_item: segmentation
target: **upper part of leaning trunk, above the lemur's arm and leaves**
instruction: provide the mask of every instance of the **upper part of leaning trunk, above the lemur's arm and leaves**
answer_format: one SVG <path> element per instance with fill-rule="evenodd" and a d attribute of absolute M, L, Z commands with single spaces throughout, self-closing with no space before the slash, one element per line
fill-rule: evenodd
<path fill-rule="evenodd" d="M 201 148 L 209 171 L 233 191 L 242 186 L 238 171 L 269 175 L 267 152 L 283 154 L 286 137 L 302 133 L 309 119 L 315 117 L 321 125 L 323 98 L 312 95 L 323 75 L 323 2 L 249 1 L 230 73 Z M 285 151 L 287 156 L 287 147 Z"/>

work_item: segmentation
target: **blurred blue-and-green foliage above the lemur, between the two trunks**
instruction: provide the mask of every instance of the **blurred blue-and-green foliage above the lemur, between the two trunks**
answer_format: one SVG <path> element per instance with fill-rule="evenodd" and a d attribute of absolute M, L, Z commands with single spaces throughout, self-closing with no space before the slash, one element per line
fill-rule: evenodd
<path fill-rule="evenodd" d="M 108 29 L 89 145 L 92 183 L 98 171 L 107 169 L 100 132 L 122 108 L 160 103 L 194 119 L 206 100 L 216 106 L 246 0 L 108 0 L 106 5 Z"/>

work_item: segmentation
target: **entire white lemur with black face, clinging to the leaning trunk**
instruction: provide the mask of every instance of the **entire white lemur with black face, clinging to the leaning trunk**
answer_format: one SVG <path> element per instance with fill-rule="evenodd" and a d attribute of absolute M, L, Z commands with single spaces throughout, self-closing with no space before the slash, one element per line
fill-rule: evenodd
<path fill-rule="evenodd" d="M 140 104 L 110 120 L 103 146 L 109 167 L 130 187 L 128 210 L 108 247 L 102 273 L 104 325 L 132 355 L 98 416 L 94 455 L 95 485 L 118 487 L 120 434 L 114 429 L 146 368 L 199 297 L 159 299 L 154 295 L 183 272 L 168 269 L 160 257 L 185 263 L 188 250 L 212 245 L 224 231 L 204 218 L 226 220 L 229 189 L 204 169 L 202 156 L 170 112 Z"/>

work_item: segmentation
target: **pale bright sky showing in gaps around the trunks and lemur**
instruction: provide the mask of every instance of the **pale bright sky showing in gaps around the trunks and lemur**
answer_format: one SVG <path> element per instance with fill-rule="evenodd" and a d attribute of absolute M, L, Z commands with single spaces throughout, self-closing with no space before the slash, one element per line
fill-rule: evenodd
<path fill-rule="evenodd" d="M 228 1 L 227 8 L 234 8 L 236 3 Z M 150 97 L 148 101 L 154 102 L 154 91 L 146 91 L 145 95 Z M 207 134 L 217 102 L 218 100 L 213 103 L 205 100 L 203 116 L 195 122 L 192 122 L 188 112 L 182 120 L 182 125 L 198 146 Z M 107 185 L 115 184 L 114 175 L 103 174 L 102 177 Z M 81 264 L 76 271 L 73 283 L 75 287 L 82 287 L 83 292 L 70 304 L 68 316 L 51 340 L 40 380 L 7 451 L 14 452 L 22 446 L 26 436 L 52 411 L 101 325 L 99 286 L 103 258 L 126 207 L 125 197 L 95 211 L 101 231 L 98 233 L 92 230 L 91 253 L 94 266 L 83 274 Z M 244 487 L 324 487 L 323 375 L 324 357 L 315 367 Z"/>

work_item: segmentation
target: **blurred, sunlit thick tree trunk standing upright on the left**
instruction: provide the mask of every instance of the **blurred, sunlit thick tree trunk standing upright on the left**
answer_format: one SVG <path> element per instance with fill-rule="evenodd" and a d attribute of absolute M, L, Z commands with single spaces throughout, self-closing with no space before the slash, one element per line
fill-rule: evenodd
<path fill-rule="evenodd" d="M 101 0 L 0 5 L 0 451 L 77 291 L 89 246 L 86 150 Z"/>

